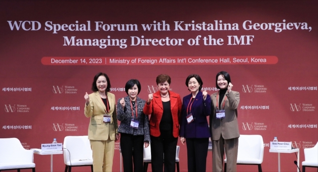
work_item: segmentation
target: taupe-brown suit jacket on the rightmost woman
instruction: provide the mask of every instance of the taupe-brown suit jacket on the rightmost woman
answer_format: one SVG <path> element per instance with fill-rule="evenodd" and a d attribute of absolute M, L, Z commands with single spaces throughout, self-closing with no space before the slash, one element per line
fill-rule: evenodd
<path fill-rule="evenodd" d="M 223 106 L 224 100 L 227 97 L 224 107 L 225 118 L 223 119 L 216 118 L 217 102 L 219 103 L 219 100 L 217 101 L 217 95 L 218 92 L 211 95 L 212 107 L 214 109 L 214 111 L 212 111 L 212 124 L 210 123 L 212 129 L 212 140 L 219 140 L 221 137 L 221 133 L 224 139 L 239 137 L 239 124 L 237 119 L 239 92 L 231 91 L 230 93 L 225 94 L 221 103 L 221 105 Z"/>

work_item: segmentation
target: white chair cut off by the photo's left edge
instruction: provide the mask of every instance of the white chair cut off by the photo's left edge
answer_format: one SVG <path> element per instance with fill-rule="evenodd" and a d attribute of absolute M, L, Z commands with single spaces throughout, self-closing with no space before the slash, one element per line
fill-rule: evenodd
<path fill-rule="evenodd" d="M 26 150 L 17 138 L 0 138 L 0 171 L 32 169 L 35 172 L 33 162 L 33 150 Z"/>

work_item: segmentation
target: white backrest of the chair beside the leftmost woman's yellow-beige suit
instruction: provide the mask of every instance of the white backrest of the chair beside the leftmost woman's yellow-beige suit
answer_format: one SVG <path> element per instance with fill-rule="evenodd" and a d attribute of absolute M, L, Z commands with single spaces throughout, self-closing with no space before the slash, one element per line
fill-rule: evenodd
<path fill-rule="evenodd" d="M 63 147 L 68 149 L 69 151 L 64 149 L 64 163 L 71 160 L 92 160 L 92 150 L 90 148 L 90 143 L 88 140 L 88 136 L 66 136 L 64 138 Z"/>

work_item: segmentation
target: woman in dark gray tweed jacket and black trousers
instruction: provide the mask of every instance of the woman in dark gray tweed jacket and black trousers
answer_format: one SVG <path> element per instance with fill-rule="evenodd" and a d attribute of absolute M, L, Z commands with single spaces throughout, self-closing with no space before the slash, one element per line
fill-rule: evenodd
<path fill-rule="evenodd" d="M 128 96 L 117 103 L 117 118 L 120 120 L 120 148 L 123 156 L 124 172 L 143 172 L 143 150 L 150 142 L 149 119 L 143 113 L 146 101 L 137 95 L 141 85 L 137 79 L 126 83 Z"/>

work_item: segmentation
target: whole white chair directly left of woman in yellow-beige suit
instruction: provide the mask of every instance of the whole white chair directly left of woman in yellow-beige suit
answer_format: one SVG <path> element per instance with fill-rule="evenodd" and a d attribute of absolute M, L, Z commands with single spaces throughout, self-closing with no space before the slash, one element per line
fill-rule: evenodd
<path fill-rule="evenodd" d="M 65 172 L 72 167 L 90 166 L 93 172 L 93 157 L 88 136 L 66 136 L 63 143 Z"/>

